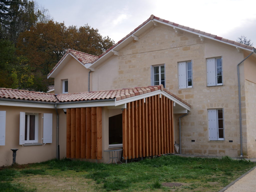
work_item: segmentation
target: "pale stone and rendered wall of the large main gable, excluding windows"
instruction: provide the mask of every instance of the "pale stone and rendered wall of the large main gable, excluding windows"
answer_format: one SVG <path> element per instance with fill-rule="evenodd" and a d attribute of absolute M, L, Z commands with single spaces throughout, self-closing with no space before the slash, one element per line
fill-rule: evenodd
<path fill-rule="evenodd" d="M 223 86 L 207 87 L 206 58 L 220 56 L 223 58 Z M 119 50 L 119 56 L 113 55 L 96 67 L 92 88 L 100 90 L 148 86 L 151 85 L 151 66 L 165 64 L 166 89 L 191 105 L 189 115 L 182 119 L 182 153 L 240 156 L 237 64 L 242 59 L 243 53 L 239 53 L 233 46 L 209 39 L 200 41 L 198 36 L 191 33 L 176 33 L 172 28 L 159 25 L 145 31 L 138 41 Z M 193 60 L 193 88 L 179 89 L 178 62 L 188 60 Z M 243 67 L 241 64 L 242 90 Z M 244 91 L 241 94 L 245 118 Z M 225 141 L 209 141 L 207 109 L 211 108 L 224 110 Z M 180 115 L 175 115 L 177 143 Z M 246 127 L 246 119 L 243 119 L 243 125 Z M 246 152 L 246 128 L 244 130 Z"/>

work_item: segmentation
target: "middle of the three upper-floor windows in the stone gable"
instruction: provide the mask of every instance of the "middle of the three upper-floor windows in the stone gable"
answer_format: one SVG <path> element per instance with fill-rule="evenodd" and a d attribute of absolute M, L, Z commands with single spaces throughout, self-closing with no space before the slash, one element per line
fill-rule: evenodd
<path fill-rule="evenodd" d="M 179 89 L 193 87 L 192 60 L 178 63 Z"/>

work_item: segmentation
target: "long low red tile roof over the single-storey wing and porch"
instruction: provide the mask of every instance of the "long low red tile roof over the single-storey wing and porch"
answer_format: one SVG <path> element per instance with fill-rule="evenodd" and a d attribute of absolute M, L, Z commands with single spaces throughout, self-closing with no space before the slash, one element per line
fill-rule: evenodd
<path fill-rule="evenodd" d="M 72 101 L 93 101 L 93 100 L 104 100 L 104 99 L 114 99 L 121 100 L 136 95 L 142 95 L 145 93 L 150 93 L 153 91 L 162 90 L 178 99 L 185 105 L 190 105 L 177 97 L 176 95 L 167 91 L 163 85 L 155 85 L 148 87 L 134 87 L 134 88 L 123 88 L 123 89 L 113 89 L 113 90 L 104 90 L 104 91 L 91 91 L 83 93 L 66 93 L 66 94 L 51 94 L 51 93 L 41 93 L 33 91 L 24 91 L 18 89 L 7 89 L 0 88 L 0 98 L 6 99 L 17 99 L 17 100 L 29 100 L 29 101 L 45 101 L 49 103 L 64 103 Z"/>

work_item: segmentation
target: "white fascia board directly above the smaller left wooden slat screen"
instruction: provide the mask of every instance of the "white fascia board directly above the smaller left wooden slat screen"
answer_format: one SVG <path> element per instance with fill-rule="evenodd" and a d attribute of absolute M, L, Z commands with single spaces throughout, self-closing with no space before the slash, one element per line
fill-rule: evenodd
<path fill-rule="evenodd" d="M 97 101 L 97 102 L 67 102 L 67 103 L 59 103 L 57 105 L 57 109 L 63 108 L 80 108 L 80 107 L 105 107 L 105 106 L 115 106 L 115 101 Z"/>

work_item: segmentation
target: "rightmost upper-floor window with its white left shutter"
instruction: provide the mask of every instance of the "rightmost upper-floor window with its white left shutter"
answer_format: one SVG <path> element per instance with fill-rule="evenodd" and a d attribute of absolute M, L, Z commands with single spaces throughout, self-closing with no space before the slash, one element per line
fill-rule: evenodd
<path fill-rule="evenodd" d="M 207 86 L 223 85 L 222 57 L 206 59 Z"/>

